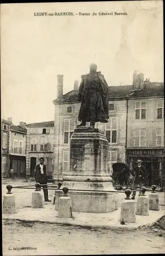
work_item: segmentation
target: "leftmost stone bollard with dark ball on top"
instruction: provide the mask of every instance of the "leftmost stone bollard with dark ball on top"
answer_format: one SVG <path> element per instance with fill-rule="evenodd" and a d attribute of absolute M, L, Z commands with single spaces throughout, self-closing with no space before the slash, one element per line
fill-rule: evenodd
<path fill-rule="evenodd" d="M 7 193 L 4 195 L 3 200 L 3 214 L 15 214 L 16 207 L 15 207 L 15 196 L 12 195 L 11 189 L 12 185 L 7 185 Z"/>

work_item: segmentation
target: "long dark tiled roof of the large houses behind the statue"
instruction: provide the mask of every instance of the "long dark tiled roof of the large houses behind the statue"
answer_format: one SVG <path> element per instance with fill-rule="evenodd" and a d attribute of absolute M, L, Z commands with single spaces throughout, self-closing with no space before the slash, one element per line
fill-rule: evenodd
<path fill-rule="evenodd" d="M 110 86 L 109 87 L 109 99 L 120 99 L 139 96 L 155 96 L 164 95 L 164 83 L 163 82 L 149 82 L 140 91 L 133 92 L 132 85 L 127 86 Z M 65 102 L 65 101 L 77 101 L 77 90 L 72 90 L 63 95 L 62 99 L 56 99 L 53 102 Z M 132 94 L 132 95 L 131 95 Z M 57 104 L 57 103 L 56 103 Z"/>

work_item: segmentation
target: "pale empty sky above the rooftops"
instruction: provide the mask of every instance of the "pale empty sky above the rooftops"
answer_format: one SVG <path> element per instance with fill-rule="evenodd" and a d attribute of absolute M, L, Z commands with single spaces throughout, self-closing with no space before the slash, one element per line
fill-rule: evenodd
<path fill-rule="evenodd" d="M 15 125 L 54 120 L 57 74 L 67 93 L 92 62 L 109 86 L 132 84 L 134 70 L 162 82 L 162 1 L 1 5 L 2 118 Z"/>

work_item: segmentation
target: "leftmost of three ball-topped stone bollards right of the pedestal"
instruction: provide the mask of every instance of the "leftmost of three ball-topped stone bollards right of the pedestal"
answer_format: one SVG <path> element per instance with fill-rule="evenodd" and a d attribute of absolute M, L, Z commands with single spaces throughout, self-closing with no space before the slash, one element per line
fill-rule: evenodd
<path fill-rule="evenodd" d="M 122 207 L 121 207 L 121 216 L 120 220 L 127 222 L 127 223 L 134 223 L 135 220 L 135 202 L 134 200 L 130 199 L 132 191 L 131 189 L 126 189 L 125 194 L 126 198 L 125 201 L 122 202 Z"/>

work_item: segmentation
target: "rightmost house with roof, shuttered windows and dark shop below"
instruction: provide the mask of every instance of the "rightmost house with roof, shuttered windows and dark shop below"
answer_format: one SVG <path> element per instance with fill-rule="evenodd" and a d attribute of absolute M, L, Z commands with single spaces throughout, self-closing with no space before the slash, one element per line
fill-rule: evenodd
<path fill-rule="evenodd" d="M 130 169 L 143 161 L 152 185 L 164 178 L 164 84 L 142 84 L 128 100 L 126 152 Z"/>

